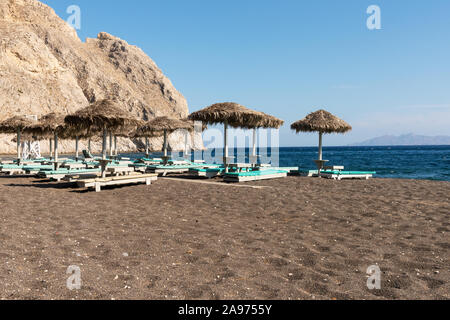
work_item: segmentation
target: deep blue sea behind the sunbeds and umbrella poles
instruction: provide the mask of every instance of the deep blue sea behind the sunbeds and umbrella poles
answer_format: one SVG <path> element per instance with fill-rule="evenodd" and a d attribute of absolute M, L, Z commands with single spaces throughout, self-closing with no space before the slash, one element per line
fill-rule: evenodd
<path fill-rule="evenodd" d="M 249 152 L 248 148 L 231 149 L 230 155 L 237 155 L 239 161 L 246 161 Z M 317 153 L 317 147 L 280 148 L 279 165 L 312 170 L 315 169 L 312 160 L 317 159 Z M 216 154 L 215 150 L 206 150 L 196 152 L 195 157 L 210 163 L 218 162 L 214 160 L 221 159 L 222 154 Z M 270 158 L 276 158 L 276 154 L 270 154 L 269 150 L 268 155 L 263 156 L 262 162 Z M 450 146 L 324 147 L 323 158 L 330 160 L 330 164 L 344 165 L 346 170 L 376 171 L 376 177 L 379 178 L 450 181 Z"/>

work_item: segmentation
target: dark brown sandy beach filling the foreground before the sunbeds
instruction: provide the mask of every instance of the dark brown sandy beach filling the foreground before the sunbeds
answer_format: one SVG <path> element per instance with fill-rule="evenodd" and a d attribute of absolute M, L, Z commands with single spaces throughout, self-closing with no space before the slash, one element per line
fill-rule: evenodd
<path fill-rule="evenodd" d="M 95 193 L 0 177 L 0 298 L 450 298 L 449 182 L 182 179 Z"/>

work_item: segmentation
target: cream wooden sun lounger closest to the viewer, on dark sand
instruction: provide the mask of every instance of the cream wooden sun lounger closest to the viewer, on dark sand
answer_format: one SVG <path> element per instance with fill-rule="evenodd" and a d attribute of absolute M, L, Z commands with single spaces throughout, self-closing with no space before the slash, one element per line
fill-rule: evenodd
<path fill-rule="evenodd" d="M 156 174 L 134 174 L 122 177 L 107 177 L 87 180 L 78 180 L 77 185 L 80 188 L 94 188 L 95 192 L 100 192 L 104 186 L 127 185 L 134 183 L 145 183 L 150 185 L 152 181 L 158 179 Z"/>

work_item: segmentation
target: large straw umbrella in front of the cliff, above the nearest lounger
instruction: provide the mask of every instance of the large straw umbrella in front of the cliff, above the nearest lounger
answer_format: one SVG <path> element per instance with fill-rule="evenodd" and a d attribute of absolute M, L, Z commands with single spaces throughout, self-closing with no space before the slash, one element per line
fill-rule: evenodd
<path fill-rule="evenodd" d="M 114 100 L 99 100 L 65 118 L 66 124 L 88 132 L 102 132 L 102 176 L 106 169 L 106 140 L 108 132 L 139 126 L 141 121 L 124 111 Z"/>

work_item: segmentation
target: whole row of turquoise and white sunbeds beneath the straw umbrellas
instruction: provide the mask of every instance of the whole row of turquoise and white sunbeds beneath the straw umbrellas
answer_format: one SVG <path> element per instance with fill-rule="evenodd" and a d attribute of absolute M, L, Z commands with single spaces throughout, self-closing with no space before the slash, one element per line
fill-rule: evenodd
<path fill-rule="evenodd" d="M 271 167 L 270 165 L 239 165 L 228 167 L 223 165 L 205 164 L 187 160 L 176 161 L 159 158 L 141 158 L 131 161 L 127 158 L 114 159 L 106 167 L 108 177 L 100 178 L 101 169 L 99 158 L 83 151 L 84 160 L 63 159 L 60 166 L 55 169 L 54 163 L 49 159 L 36 159 L 22 163 L 0 163 L 0 172 L 6 174 L 32 174 L 39 178 L 56 181 L 77 182 L 79 186 L 88 186 L 100 190 L 104 185 L 145 182 L 151 183 L 158 175 L 188 173 L 191 176 L 214 178 L 223 177 L 226 182 L 256 181 L 274 178 L 284 178 L 288 174 L 306 176 L 320 176 L 323 178 L 342 179 L 369 179 L 375 172 L 344 171 L 344 167 L 328 167 L 324 170 L 300 171 L 298 167 Z M 238 168 L 238 169 L 237 169 Z"/>

